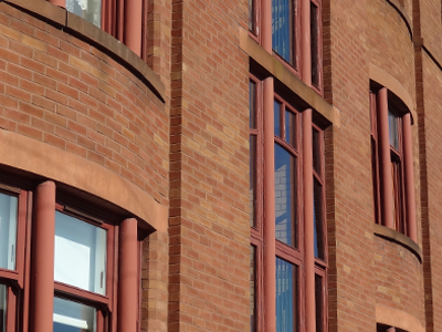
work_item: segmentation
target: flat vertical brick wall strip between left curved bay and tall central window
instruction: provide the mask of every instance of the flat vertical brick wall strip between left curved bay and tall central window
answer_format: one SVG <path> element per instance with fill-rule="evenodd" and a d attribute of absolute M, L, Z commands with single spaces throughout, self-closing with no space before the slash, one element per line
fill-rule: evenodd
<path fill-rule="evenodd" d="M 169 331 L 248 331 L 246 1 L 172 12 Z"/>

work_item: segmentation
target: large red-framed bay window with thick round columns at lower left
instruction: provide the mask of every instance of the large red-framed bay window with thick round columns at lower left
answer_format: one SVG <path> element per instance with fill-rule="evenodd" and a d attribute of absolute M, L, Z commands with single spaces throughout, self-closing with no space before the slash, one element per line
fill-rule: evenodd
<path fill-rule="evenodd" d="M 0 185 L 0 332 L 136 331 L 139 250 L 134 218 L 56 203 L 52 181 Z"/>

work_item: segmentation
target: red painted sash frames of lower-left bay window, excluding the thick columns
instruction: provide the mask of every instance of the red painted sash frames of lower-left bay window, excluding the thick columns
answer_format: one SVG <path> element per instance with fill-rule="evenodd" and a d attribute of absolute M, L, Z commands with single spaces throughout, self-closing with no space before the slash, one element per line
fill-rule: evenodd
<path fill-rule="evenodd" d="M 0 193 L 18 197 L 18 222 L 17 222 L 17 251 L 15 270 L 0 269 L 0 283 L 7 286 L 7 332 L 29 330 L 30 288 L 31 288 L 31 264 L 32 264 L 32 215 L 33 191 L 23 190 L 15 186 L 8 186 L 0 183 Z M 106 294 L 97 294 L 91 291 L 57 282 L 54 280 L 54 297 L 75 301 L 94 307 L 97 312 L 97 332 L 117 330 L 117 307 L 118 307 L 118 234 L 119 225 L 116 222 L 101 221 L 97 218 L 83 214 L 82 210 L 66 208 L 65 205 L 55 203 L 55 210 L 91 225 L 106 229 Z M 122 220 L 123 221 L 123 220 Z M 55 236 L 55 235 L 54 235 Z M 141 239 L 137 240 L 138 248 L 138 301 L 141 299 Z M 140 303 L 140 302 L 139 302 Z M 138 305 L 139 308 L 139 305 Z M 52 309 L 51 309 L 52 310 Z M 140 312 L 137 313 L 137 330 Z"/>

